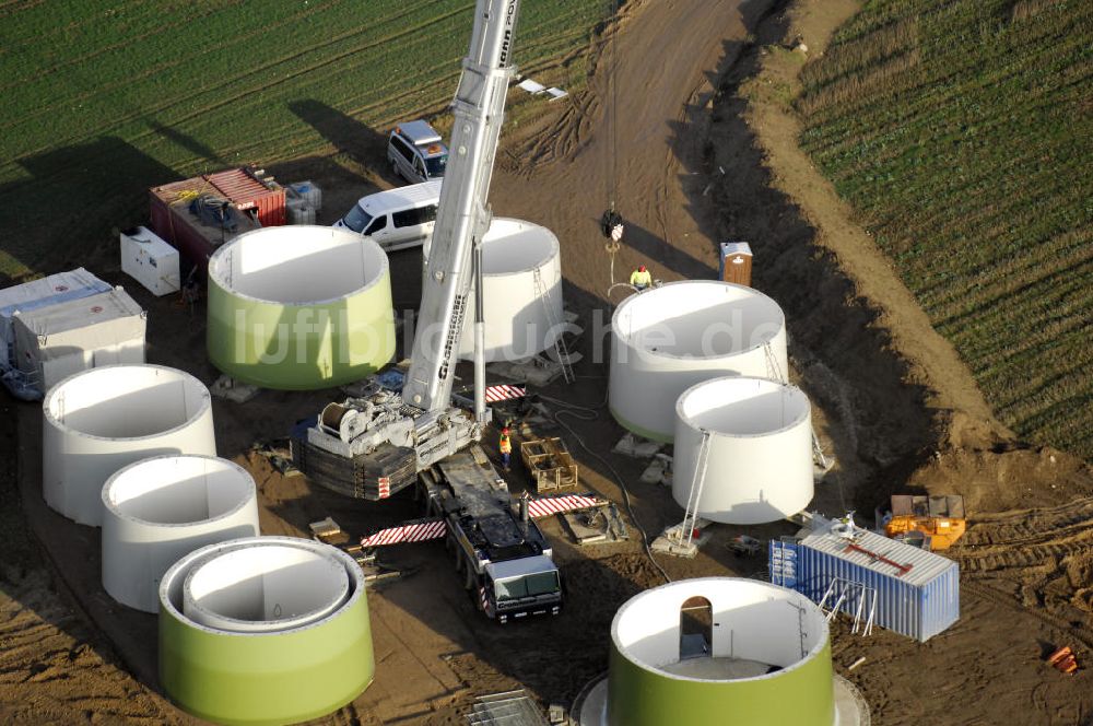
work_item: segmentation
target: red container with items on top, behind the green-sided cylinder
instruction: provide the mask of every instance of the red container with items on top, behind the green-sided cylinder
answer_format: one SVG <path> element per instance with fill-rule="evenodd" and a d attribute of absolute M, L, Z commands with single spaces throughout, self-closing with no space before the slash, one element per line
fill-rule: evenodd
<path fill-rule="evenodd" d="M 200 195 L 212 195 L 232 202 L 240 212 L 235 232 L 204 224 L 190 212 L 190 202 Z M 281 226 L 286 222 L 284 187 L 250 167 L 152 187 L 149 190 L 149 207 L 152 231 L 202 272 L 209 257 L 223 243 L 259 226 Z M 257 223 L 252 221 L 250 210 L 257 210 Z"/>

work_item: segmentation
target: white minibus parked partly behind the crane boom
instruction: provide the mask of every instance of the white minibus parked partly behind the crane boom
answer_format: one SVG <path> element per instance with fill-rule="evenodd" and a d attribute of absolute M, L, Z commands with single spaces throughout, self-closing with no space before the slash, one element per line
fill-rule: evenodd
<path fill-rule="evenodd" d="M 433 234 L 443 182 L 434 179 L 361 197 L 333 226 L 368 235 L 387 251 L 416 247 Z"/>

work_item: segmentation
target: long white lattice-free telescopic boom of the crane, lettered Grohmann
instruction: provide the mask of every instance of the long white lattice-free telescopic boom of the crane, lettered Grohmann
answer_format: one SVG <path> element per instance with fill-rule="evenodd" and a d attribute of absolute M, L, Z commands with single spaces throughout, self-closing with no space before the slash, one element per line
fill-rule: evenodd
<path fill-rule="evenodd" d="M 433 227 L 413 354 L 402 388 L 406 402 L 428 413 L 450 406 L 467 296 L 474 281 L 472 272 L 481 270 L 475 260 L 480 261 L 482 237 L 492 218 L 486 200 L 505 116 L 505 94 L 515 72 L 510 59 L 519 4 L 520 0 L 478 0 L 470 51 L 451 103 L 450 157 Z M 479 284 L 478 290 L 481 288 Z M 477 328 L 480 335 L 481 320 Z M 475 378 L 479 374 L 475 371 Z"/>

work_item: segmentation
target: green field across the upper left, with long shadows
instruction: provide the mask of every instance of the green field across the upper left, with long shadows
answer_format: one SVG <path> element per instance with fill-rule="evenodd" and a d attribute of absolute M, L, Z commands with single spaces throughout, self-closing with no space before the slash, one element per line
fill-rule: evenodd
<path fill-rule="evenodd" d="M 330 154 L 442 112 L 473 0 L 0 3 L 0 274 L 79 262 L 148 187 Z M 525 0 L 516 62 L 569 87 L 607 0 Z M 344 149 L 341 149 L 344 151 Z"/>

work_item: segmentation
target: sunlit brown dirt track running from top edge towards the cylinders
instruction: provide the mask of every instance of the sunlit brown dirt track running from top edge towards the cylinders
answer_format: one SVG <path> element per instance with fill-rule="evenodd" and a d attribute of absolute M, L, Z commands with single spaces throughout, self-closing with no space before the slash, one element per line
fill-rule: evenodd
<path fill-rule="evenodd" d="M 684 165 L 701 149 L 702 109 L 726 44 L 747 33 L 741 4 L 755 14 L 769 3 L 626 3 L 618 31 L 598 48 L 591 93 L 508 140 L 515 151 L 495 176 L 494 207 L 554 230 L 566 281 L 583 293 L 602 297 L 612 281 L 597 226 L 612 202 L 626 229 L 615 281 L 640 264 L 663 280 L 716 268 L 702 234 L 708 210 L 692 208 L 695 183 Z"/>

